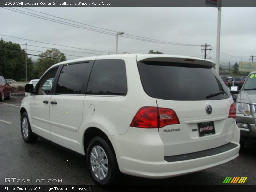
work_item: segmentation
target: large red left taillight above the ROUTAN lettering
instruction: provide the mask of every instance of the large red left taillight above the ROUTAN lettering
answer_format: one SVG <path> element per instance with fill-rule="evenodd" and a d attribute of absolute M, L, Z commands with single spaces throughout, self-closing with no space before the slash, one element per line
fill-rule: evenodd
<path fill-rule="evenodd" d="M 179 119 L 172 109 L 158 107 L 142 107 L 134 116 L 131 127 L 157 128 L 179 124 Z"/>

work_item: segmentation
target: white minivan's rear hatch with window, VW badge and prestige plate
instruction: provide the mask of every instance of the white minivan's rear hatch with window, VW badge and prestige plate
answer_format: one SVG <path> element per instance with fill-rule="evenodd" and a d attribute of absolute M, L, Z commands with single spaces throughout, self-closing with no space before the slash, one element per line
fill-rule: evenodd
<path fill-rule="evenodd" d="M 137 56 L 137 65 L 144 91 L 156 98 L 158 108 L 172 109 L 179 120 L 159 128 L 164 156 L 216 148 L 232 140 L 234 123 L 228 117 L 233 101 L 214 63 L 163 55 Z"/>

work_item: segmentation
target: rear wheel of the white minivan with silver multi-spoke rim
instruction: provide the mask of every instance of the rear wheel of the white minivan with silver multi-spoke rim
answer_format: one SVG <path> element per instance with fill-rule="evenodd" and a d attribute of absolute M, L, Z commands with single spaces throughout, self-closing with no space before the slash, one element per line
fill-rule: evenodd
<path fill-rule="evenodd" d="M 99 150 L 103 150 L 105 154 L 103 154 L 102 156 L 106 156 L 106 158 L 104 158 L 103 160 L 101 159 L 101 157 L 99 157 L 98 161 L 95 160 L 95 158 L 92 155 L 92 149 L 99 149 Z M 117 181 L 117 178 L 119 176 L 119 168 L 118 168 L 118 164 L 116 161 L 116 157 L 115 154 L 112 150 L 112 148 L 110 147 L 109 143 L 107 142 L 107 140 L 105 140 L 102 137 L 94 137 L 92 138 L 92 140 L 90 141 L 88 148 L 87 148 L 87 153 L 86 153 L 86 160 L 87 160 L 87 166 L 88 169 L 91 173 L 91 176 L 93 178 L 93 180 L 96 182 L 96 184 L 98 185 L 112 185 L 114 184 L 115 181 Z M 91 162 L 91 157 L 92 157 L 92 162 Z M 107 163 L 106 163 L 106 159 L 107 159 Z M 102 160 L 102 162 L 101 162 Z M 103 162 L 105 161 L 105 162 Z M 97 164 L 94 165 L 94 168 L 92 168 L 92 163 Z M 98 167 L 97 167 L 98 166 Z M 105 172 L 105 168 L 101 167 L 101 166 L 105 166 L 107 167 L 107 173 Z M 104 168 L 104 169 L 103 169 Z M 96 171 L 96 173 L 93 172 Z M 97 170 L 101 170 L 102 172 L 97 172 Z M 102 173 L 105 173 L 104 174 Z M 102 178 L 100 178 L 100 176 L 102 176 Z"/>

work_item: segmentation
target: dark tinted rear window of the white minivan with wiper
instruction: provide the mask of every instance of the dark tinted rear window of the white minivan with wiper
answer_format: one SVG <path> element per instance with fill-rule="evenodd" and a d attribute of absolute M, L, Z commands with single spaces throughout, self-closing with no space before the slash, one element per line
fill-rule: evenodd
<path fill-rule="evenodd" d="M 231 95 L 215 69 L 203 65 L 144 61 L 138 62 L 145 92 L 164 100 L 221 100 Z M 216 92 L 227 91 L 206 98 Z"/>

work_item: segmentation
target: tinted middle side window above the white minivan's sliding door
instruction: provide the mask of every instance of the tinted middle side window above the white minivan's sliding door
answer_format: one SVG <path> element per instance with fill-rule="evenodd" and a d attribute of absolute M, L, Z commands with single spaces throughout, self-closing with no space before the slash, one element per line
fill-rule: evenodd
<path fill-rule="evenodd" d="M 92 65 L 93 61 L 64 65 L 57 83 L 56 93 L 85 94 Z"/>

